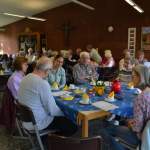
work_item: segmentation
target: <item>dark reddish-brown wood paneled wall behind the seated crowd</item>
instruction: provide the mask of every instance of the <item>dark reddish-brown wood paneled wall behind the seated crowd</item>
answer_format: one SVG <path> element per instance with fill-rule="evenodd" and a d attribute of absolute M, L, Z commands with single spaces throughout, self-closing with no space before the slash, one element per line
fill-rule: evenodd
<path fill-rule="evenodd" d="M 37 16 L 46 18 L 46 22 L 21 20 L 6 26 L 6 31 L 0 33 L 0 41 L 4 42 L 8 53 L 18 51 L 18 35 L 26 27 L 32 31 L 45 32 L 48 48 L 60 50 L 65 48 L 85 49 L 87 44 L 93 44 L 103 54 L 105 49 L 111 49 L 116 59 L 120 59 L 122 50 L 127 48 L 128 28 L 137 28 L 137 45 L 141 47 L 141 27 L 150 26 L 150 13 L 139 14 L 121 0 L 86 0 L 93 5 L 95 11 L 70 3 Z M 64 45 L 64 33 L 60 30 L 62 25 L 70 21 L 74 30 L 70 33 L 70 46 Z M 114 31 L 108 32 L 108 26 Z M 150 52 L 146 52 L 150 58 Z"/>

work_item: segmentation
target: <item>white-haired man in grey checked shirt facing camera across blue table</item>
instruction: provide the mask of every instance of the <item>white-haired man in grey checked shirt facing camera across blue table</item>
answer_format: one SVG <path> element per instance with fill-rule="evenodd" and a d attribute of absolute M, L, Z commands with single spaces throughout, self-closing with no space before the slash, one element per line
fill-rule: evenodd
<path fill-rule="evenodd" d="M 80 53 L 79 63 L 73 68 L 73 77 L 76 84 L 88 83 L 91 79 L 97 79 L 98 75 L 95 68 L 90 64 L 88 52 Z"/>

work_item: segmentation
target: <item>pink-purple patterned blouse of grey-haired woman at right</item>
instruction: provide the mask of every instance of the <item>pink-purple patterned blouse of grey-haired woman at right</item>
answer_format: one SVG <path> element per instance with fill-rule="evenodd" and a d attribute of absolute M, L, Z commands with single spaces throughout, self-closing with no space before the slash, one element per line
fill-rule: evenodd
<path fill-rule="evenodd" d="M 132 129 L 141 133 L 150 120 L 150 88 L 146 88 L 135 100 Z"/>

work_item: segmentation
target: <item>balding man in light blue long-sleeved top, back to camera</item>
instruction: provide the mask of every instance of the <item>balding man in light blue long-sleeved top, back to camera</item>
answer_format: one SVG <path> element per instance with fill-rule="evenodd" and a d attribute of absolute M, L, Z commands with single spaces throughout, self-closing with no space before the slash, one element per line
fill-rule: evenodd
<path fill-rule="evenodd" d="M 62 135 L 69 136 L 76 131 L 76 126 L 67 118 L 56 105 L 50 86 L 45 78 L 52 64 L 46 56 L 41 57 L 33 73 L 28 74 L 21 82 L 18 100 L 33 111 L 39 130 L 58 129 Z M 32 124 L 24 123 L 24 127 L 32 130 Z"/>

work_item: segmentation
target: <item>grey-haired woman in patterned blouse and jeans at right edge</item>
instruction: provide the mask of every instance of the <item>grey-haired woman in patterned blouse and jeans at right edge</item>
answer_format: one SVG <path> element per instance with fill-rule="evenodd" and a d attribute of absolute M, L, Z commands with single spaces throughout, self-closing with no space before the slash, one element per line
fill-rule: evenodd
<path fill-rule="evenodd" d="M 100 134 L 109 144 L 109 150 L 125 150 L 114 137 L 120 137 L 129 145 L 137 146 L 141 140 L 141 133 L 150 120 L 150 70 L 144 65 L 137 65 L 132 71 L 132 81 L 135 87 L 142 90 L 134 101 L 133 119 L 127 121 L 128 126 L 108 125 L 101 130 Z"/>

